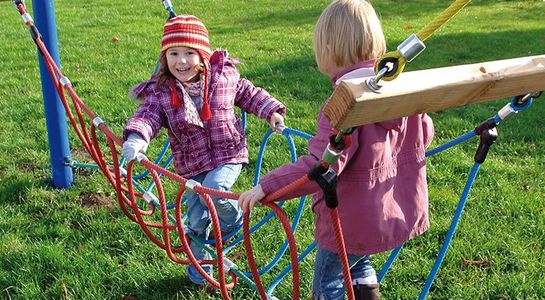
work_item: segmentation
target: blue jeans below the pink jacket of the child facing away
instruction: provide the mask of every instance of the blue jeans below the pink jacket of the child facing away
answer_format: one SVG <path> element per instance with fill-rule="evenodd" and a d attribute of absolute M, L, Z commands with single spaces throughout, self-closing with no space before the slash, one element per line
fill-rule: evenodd
<path fill-rule="evenodd" d="M 312 283 L 313 298 L 320 300 L 344 299 L 344 277 L 339 256 L 320 246 L 316 246 L 316 249 L 314 281 Z M 376 277 L 375 269 L 371 266 L 369 258 L 370 256 L 348 254 L 352 281 L 370 276 Z"/>

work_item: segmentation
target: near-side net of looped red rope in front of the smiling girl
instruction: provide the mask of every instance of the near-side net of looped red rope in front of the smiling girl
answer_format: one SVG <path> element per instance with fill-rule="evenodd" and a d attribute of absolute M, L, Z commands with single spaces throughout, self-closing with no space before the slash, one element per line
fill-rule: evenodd
<path fill-rule="evenodd" d="M 24 3 L 18 3 L 16 4 L 16 7 L 23 16 L 25 24 L 37 33 L 32 17 L 26 12 Z M 146 172 L 149 172 L 151 175 L 152 184 L 155 186 L 157 194 L 153 195 L 149 192 L 139 191 L 135 187 L 136 181 L 135 175 L 133 175 L 135 161 L 128 162 L 127 169 L 125 170 L 125 168 L 123 168 L 123 159 L 120 159 L 119 156 L 118 149 L 121 149 L 123 140 L 116 136 L 108 126 L 106 126 L 104 121 L 97 117 L 78 96 L 70 80 L 62 74 L 54 59 L 51 57 L 39 33 L 33 37 L 40 54 L 43 55 L 47 70 L 61 99 L 70 124 L 81 141 L 83 148 L 85 148 L 86 152 L 96 163 L 98 169 L 104 174 L 107 181 L 115 189 L 119 208 L 125 216 L 137 223 L 146 236 L 155 245 L 163 249 L 172 261 L 178 264 L 191 264 L 195 266 L 196 270 L 211 286 L 220 289 L 224 299 L 231 299 L 228 291 L 238 283 L 239 278 L 243 278 L 251 287 L 257 289 L 262 299 L 270 299 L 271 296 L 267 294 L 265 287 L 263 286 L 260 278 L 260 271 L 258 270 L 256 260 L 253 256 L 249 214 L 244 215 L 243 235 L 248 265 L 250 266 L 251 275 L 254 281 L 252 282 L 247 278 L 243 272 L 238 270 L 238 267 L 232 261 L 225 257 L 225 245 L 219 227 L 218 214 L 211 196 L 238 200 L 239 195 L 210 189 L 199 184 L 193 185 L 190 183 L 188 185 L 189 181 L 186 178 L 148 160 L 143 154 L 139 154 L 137 161 L 146 169 Z M 107 153 L 103 153 L 103 150 L 101 150 L 99 134 L 102 134 L 106 139 Z M 111 161 L 106 161 L 105 157 L 109 157 Z M 167 201 L 161 177 L 166 177 L 179 187 L 172 202 Z M 214 245 L 214 250 L 210 253 L 213 257 L 211 260 L 197 260 L 189 248 L 190 242 L 202 243 L 202 241 L 191 240 L 190 234 L 186 232 L 183 226 L 184 208 L 182 205 L 182 198 L 184 192 L 188 189 L 188 186 L 204 199 L 204 202 L 210 211 L 211 226 L 214 236 L 214 240 L 211 243 Z M 297 188 L 297 186 L 294 185 L 292 188 Z M 287 192 L 289 190 L 284 189 L 283 191 Z M 168 203 L 174 203 L 174 216 L 169 214 Z M 297 246 L 292 226 L 286 213 L 277 203 L 269 200 L 263 204 L 272 210 L 285 232 L 290 251 L 291 270 L 293 273 L 292 299 L 299 299 L 299 266 Z M 159 216 L 159 221 L 157 221 L 157 215 Z M 153 216 L 155 216 L 155 218 Z M 156 232 L 160 232 L 160 234 L 156 234 Z M 217 267 L 217 279 L 211 277 L 203 270 L 202 265 L 204 264 Z"/>

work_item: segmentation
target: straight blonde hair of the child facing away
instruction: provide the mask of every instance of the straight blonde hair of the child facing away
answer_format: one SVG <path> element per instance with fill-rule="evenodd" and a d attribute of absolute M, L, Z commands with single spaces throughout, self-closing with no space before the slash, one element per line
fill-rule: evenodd
<path fill-rule="evenodd" d="M 333 61 L 348 67 L 386 52 L 375 9 L 365 0 L 335 0 L 322 12 L 313 38 L 318 66 Z"/>

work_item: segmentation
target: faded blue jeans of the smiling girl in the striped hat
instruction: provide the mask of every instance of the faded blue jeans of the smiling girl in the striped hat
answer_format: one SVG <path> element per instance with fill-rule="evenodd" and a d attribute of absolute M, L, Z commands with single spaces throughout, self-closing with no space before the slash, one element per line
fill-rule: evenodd
<path fill-rule="evenodd" d="M 202 186 L 220 191 L 229 191 L 242 170 L 242 164 L 226 164 L 208 172 L 201 173 L 191 179 Z M 187 191 L 187 229 L 200 240 L 208 239 L 210 234 L 211 216 L 206 202 L 195 192 Z M 242 225 L 242 210 L 238 201 L 212 196 L 212 202 L 218 213 L 221 230 L 230 232 Z M 197 243 L 191 243 L 190 249 L 197 260 L 211 259 L 211 256 Z M 206 273 L 212 275 L 212 266 L 203 265 Z M 206 280 L 191 265 L 187 267 L 189 279 L 196 284 L 205 284 Z"/>

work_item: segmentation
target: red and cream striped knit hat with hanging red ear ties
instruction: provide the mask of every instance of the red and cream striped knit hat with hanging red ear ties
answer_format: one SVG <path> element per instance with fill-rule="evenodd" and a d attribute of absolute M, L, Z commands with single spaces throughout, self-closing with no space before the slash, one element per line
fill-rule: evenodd
<path fill-rule="evenodd" d="M 163 27 L 163 37 L 161 39 L 161 55 L 172 47 L 189 47 L 195 49 L 201 56 L 204 70 L 201 72 L 201 81 L 203 82 L 203 107 L 201 110 L 201 119 L 207 121 L 212 113 L 208 104 L 208 70 L 210 67 L 210 42 L 208 40 L 208 30 L 199 18 L 191 15 L 180 15 L 169 19 Z M 175 84 L 170 83 L 172 93 L 172 104 L 177 107 L 181 105 Z"/>

